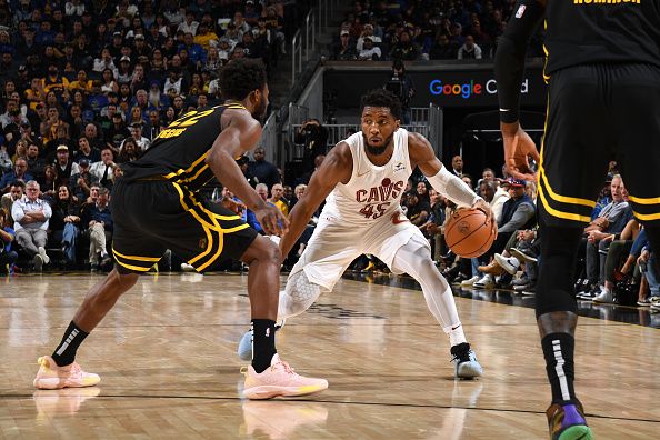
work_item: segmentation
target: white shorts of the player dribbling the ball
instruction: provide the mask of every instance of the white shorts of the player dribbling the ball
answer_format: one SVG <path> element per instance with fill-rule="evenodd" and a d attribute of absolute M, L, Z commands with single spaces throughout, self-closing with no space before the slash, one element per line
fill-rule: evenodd
<path fill-rule="evenodd" d="M 362 226 L 321 219 L 291 274 L 304 270 L 311 282 L 332 290 L 349 264 L 362 253 L 378 257 L 391 270 L 397 251 L 413 237 L 426 243 L 430 252 L 429 241 L 410 221 L 394 224 L 390 216 L 383 216 Z"/>

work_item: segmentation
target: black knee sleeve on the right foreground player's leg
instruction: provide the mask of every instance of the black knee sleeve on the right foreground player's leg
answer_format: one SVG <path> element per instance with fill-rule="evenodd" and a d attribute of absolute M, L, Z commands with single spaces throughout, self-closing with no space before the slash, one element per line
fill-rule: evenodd
<path fill-rule="evenodd" d="M 540 227 L 541 258 L 537 281 L 537 318 L 556 311 L 577 313 L 573 278 L 583 229 Z"/>

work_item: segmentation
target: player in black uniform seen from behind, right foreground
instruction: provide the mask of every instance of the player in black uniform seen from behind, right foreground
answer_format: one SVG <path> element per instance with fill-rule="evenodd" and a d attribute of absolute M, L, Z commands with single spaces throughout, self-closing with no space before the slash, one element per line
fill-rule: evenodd
<path fill-rule="evenodd" d="M 546 18 L 549 84 L 541 153 L 518 122 L 527 43 Z M 539 164 L 537 322 L 552 390 L 552 439 L 591 439 L 573 390 L 578 244 L 608 161 L 621 164 L 634 217 L 660 250 L 660 0 L 521 0 L 496 56 L 509 172 Z"/>

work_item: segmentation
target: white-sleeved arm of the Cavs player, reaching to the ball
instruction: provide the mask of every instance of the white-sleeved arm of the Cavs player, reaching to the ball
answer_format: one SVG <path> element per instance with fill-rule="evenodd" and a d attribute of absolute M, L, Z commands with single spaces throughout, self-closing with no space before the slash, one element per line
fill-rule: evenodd
<path fill-rule="evenodd" d="M 490 206 L 472 191 L 458 176 L 449 172 L 436 157 L 433 148 L 421 134 L 408 133 L 408 151 L 412 168 L 419 167 L 421 172 L 436 191 L 447 197 L 459 207 L 469 207 L 482 210 L 487 221 L 494 228 L 492 210 Z"/>

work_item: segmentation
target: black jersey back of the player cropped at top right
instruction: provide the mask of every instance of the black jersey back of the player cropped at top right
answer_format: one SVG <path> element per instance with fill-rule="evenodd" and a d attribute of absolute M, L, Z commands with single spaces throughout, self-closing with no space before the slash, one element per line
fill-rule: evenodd
<path fill-rule="evenodd" d="M 579 64 L 660 67 L 660 0 L 547 0 L 544 49 L 546 79 Z"/>

